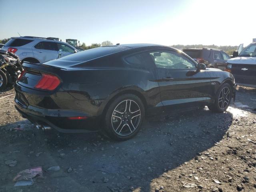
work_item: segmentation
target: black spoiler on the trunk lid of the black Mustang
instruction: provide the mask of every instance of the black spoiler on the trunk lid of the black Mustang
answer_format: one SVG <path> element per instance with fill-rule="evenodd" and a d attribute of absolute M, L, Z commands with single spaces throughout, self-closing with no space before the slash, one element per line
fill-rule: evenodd
<path fill-rule="evenodd" d="M 58 70 L 66 70 L 66 68 L 50 66 L 50 65 L 40 64 L 40 63 L 30 63 L 27 61 L 23 62 L 22 67 L 24 69 L 36 70 L 36 71 L 40 71 L 40 72 L 42 71 L 42 72 L 46 72 L 46 73 L 55 73 Z"/>

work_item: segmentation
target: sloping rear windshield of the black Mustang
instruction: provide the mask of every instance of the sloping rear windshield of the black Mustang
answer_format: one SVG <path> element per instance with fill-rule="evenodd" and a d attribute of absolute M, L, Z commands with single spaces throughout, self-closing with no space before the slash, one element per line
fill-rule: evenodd
<path fill-rule="evenodd" d="M 88 61 L 98 57 L 106 56 L 109 54 L 117 53 L 120 51 L 128 50 L 129 47 L 126 46 L 106 46 L 106 47 L 98 47 L 93 49 L 88 49 L 85 51 L 81 51 L 75 54 L 71 54 L 60 58 L 59 60 L 68 60 L 68 61 Z"/>

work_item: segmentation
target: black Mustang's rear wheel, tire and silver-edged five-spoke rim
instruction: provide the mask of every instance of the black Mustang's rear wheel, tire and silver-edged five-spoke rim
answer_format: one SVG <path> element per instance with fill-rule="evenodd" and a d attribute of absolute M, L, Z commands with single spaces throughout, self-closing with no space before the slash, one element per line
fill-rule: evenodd
<path fill-rule="evenodd" d="M 133 94 L 124 94 L 108 107 L 105 132 L 114 140 L 128 140 L 138 134 L 144 117 L 145 108 L 140 98 Z"/>

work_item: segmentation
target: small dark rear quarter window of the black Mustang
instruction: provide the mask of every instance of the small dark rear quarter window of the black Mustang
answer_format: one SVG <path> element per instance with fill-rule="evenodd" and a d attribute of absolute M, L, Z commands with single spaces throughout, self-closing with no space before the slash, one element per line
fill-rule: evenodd
<path fill-rule="evenodd" d="M 153 68 L 154 62 L 148 52 L 134 54 L 124 59 L 132 68 Z"/>

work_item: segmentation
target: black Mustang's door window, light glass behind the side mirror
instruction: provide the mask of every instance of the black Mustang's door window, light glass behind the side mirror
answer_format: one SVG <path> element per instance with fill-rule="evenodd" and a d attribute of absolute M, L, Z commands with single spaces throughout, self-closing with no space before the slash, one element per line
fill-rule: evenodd
<path fill-rule="evenodd" d="M 174 51 L 150 52 L 157 68 L 196 68 L 194 62 Z"/>

